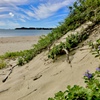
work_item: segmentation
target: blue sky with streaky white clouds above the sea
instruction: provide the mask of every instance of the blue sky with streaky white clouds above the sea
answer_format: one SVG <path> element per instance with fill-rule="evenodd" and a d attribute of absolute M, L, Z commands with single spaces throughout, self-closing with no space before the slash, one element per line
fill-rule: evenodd
<path fill-rule="evenodd" d="M 0 0 L 0 29 L 54 28 L 69 14 L 75 0 Z"/>

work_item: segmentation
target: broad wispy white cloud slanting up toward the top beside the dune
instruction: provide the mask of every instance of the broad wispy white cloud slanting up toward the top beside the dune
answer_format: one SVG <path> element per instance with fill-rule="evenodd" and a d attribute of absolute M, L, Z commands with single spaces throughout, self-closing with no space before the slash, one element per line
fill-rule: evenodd
<path fill-rule="evenodd" d="M 53 1 L 53 0 L 51 0 L 51 1 Z M 59 9 L 71 4 L 71 2 L 73 2 L 75 0 L 71 0 L 71 1 L 59 0 L 60 2 L 57 2 L 58 0 L 55 0 L 54 2 L 51 2 L 51 1 L 49 0 L 49 2 L 47 2 L 47 3 L 40 4 L 38 7 L 31 6 L 31 10 L 28 10 L 26 12 L 26 14 L 28 14 L 28 16 L 34 17 L 36 19 L 44 19 L 44 18 L 47 18 L 49 16 L 52 16 Z"/>

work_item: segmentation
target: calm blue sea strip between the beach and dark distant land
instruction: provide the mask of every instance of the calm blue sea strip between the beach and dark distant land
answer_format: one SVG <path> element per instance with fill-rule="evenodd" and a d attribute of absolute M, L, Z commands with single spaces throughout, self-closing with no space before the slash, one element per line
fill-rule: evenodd
<path fill-rule="evenodd" d="M 47 35 L 51 30 L 14 30 L 0 29 L 0 37 L 39 36 Z"/>

